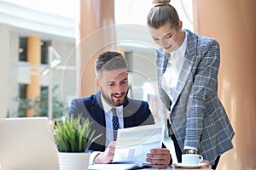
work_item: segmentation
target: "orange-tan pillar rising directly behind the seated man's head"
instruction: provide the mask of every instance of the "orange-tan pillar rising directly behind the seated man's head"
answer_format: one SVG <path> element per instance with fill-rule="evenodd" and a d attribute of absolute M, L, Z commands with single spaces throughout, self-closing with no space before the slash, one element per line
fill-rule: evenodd
<path fill-rule="evenodd" d="M 79 42 L 76 54 L 79 96 L 96 92 L 94 62 L 98 54 L 113 48 L 114 1 L 80 0 Z M 110 42 L 110 43 L 108 43 Z"/>

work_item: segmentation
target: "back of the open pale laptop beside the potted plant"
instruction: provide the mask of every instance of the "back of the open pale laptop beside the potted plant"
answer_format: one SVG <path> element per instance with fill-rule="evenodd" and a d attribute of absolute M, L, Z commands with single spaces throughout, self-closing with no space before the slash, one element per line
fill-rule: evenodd
<path fill-rule="evenodd" d="M 0 118 L 0 170 L 58 170 L 47 117 Z"/>

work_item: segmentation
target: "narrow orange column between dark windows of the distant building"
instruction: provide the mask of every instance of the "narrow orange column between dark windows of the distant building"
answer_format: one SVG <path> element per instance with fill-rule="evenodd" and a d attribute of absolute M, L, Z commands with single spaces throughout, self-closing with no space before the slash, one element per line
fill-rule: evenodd
<path fill-rule="evenodd" d="M 40 37 L 31 36 L 27 38 L 27 62 L 31 63 L 31 82 L 26 89 L 26 96 L 35 99 L 40 95 L 39 66 L 41 65 L 41 45 Z M 27 111 L 27 116 L 33 116 L 32 109 Z"/>

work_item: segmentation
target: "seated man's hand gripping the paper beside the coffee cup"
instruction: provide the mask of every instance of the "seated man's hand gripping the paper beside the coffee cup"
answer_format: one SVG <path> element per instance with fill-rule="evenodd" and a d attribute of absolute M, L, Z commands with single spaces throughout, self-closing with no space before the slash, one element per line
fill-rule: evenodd
<path fill-rule="evenodd" d="M 167 168 L 171 161 L 170 151 L 165 148 L 152 149 L 147 154 L 148 158 L 146 161 L 151 163 L 153 168 Z"/>

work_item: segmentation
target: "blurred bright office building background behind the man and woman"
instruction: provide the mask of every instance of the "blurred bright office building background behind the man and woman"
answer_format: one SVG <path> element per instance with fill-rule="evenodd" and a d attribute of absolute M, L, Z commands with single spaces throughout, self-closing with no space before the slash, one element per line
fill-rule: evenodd
<path fill-rule="evenodd" d="M 236 136 L 218 169 L 256 169 L 254 0 L 172 0 L 183 28 L 218 40 L 220 99 Z M 0 0 L 0 117 L 60 118 L 73 98 L 96 92 L 94 60 L 125 54 L 129 96 L 147 100 L 156 122 L 154 49 L 146 26 L 151 0 Z"/>

